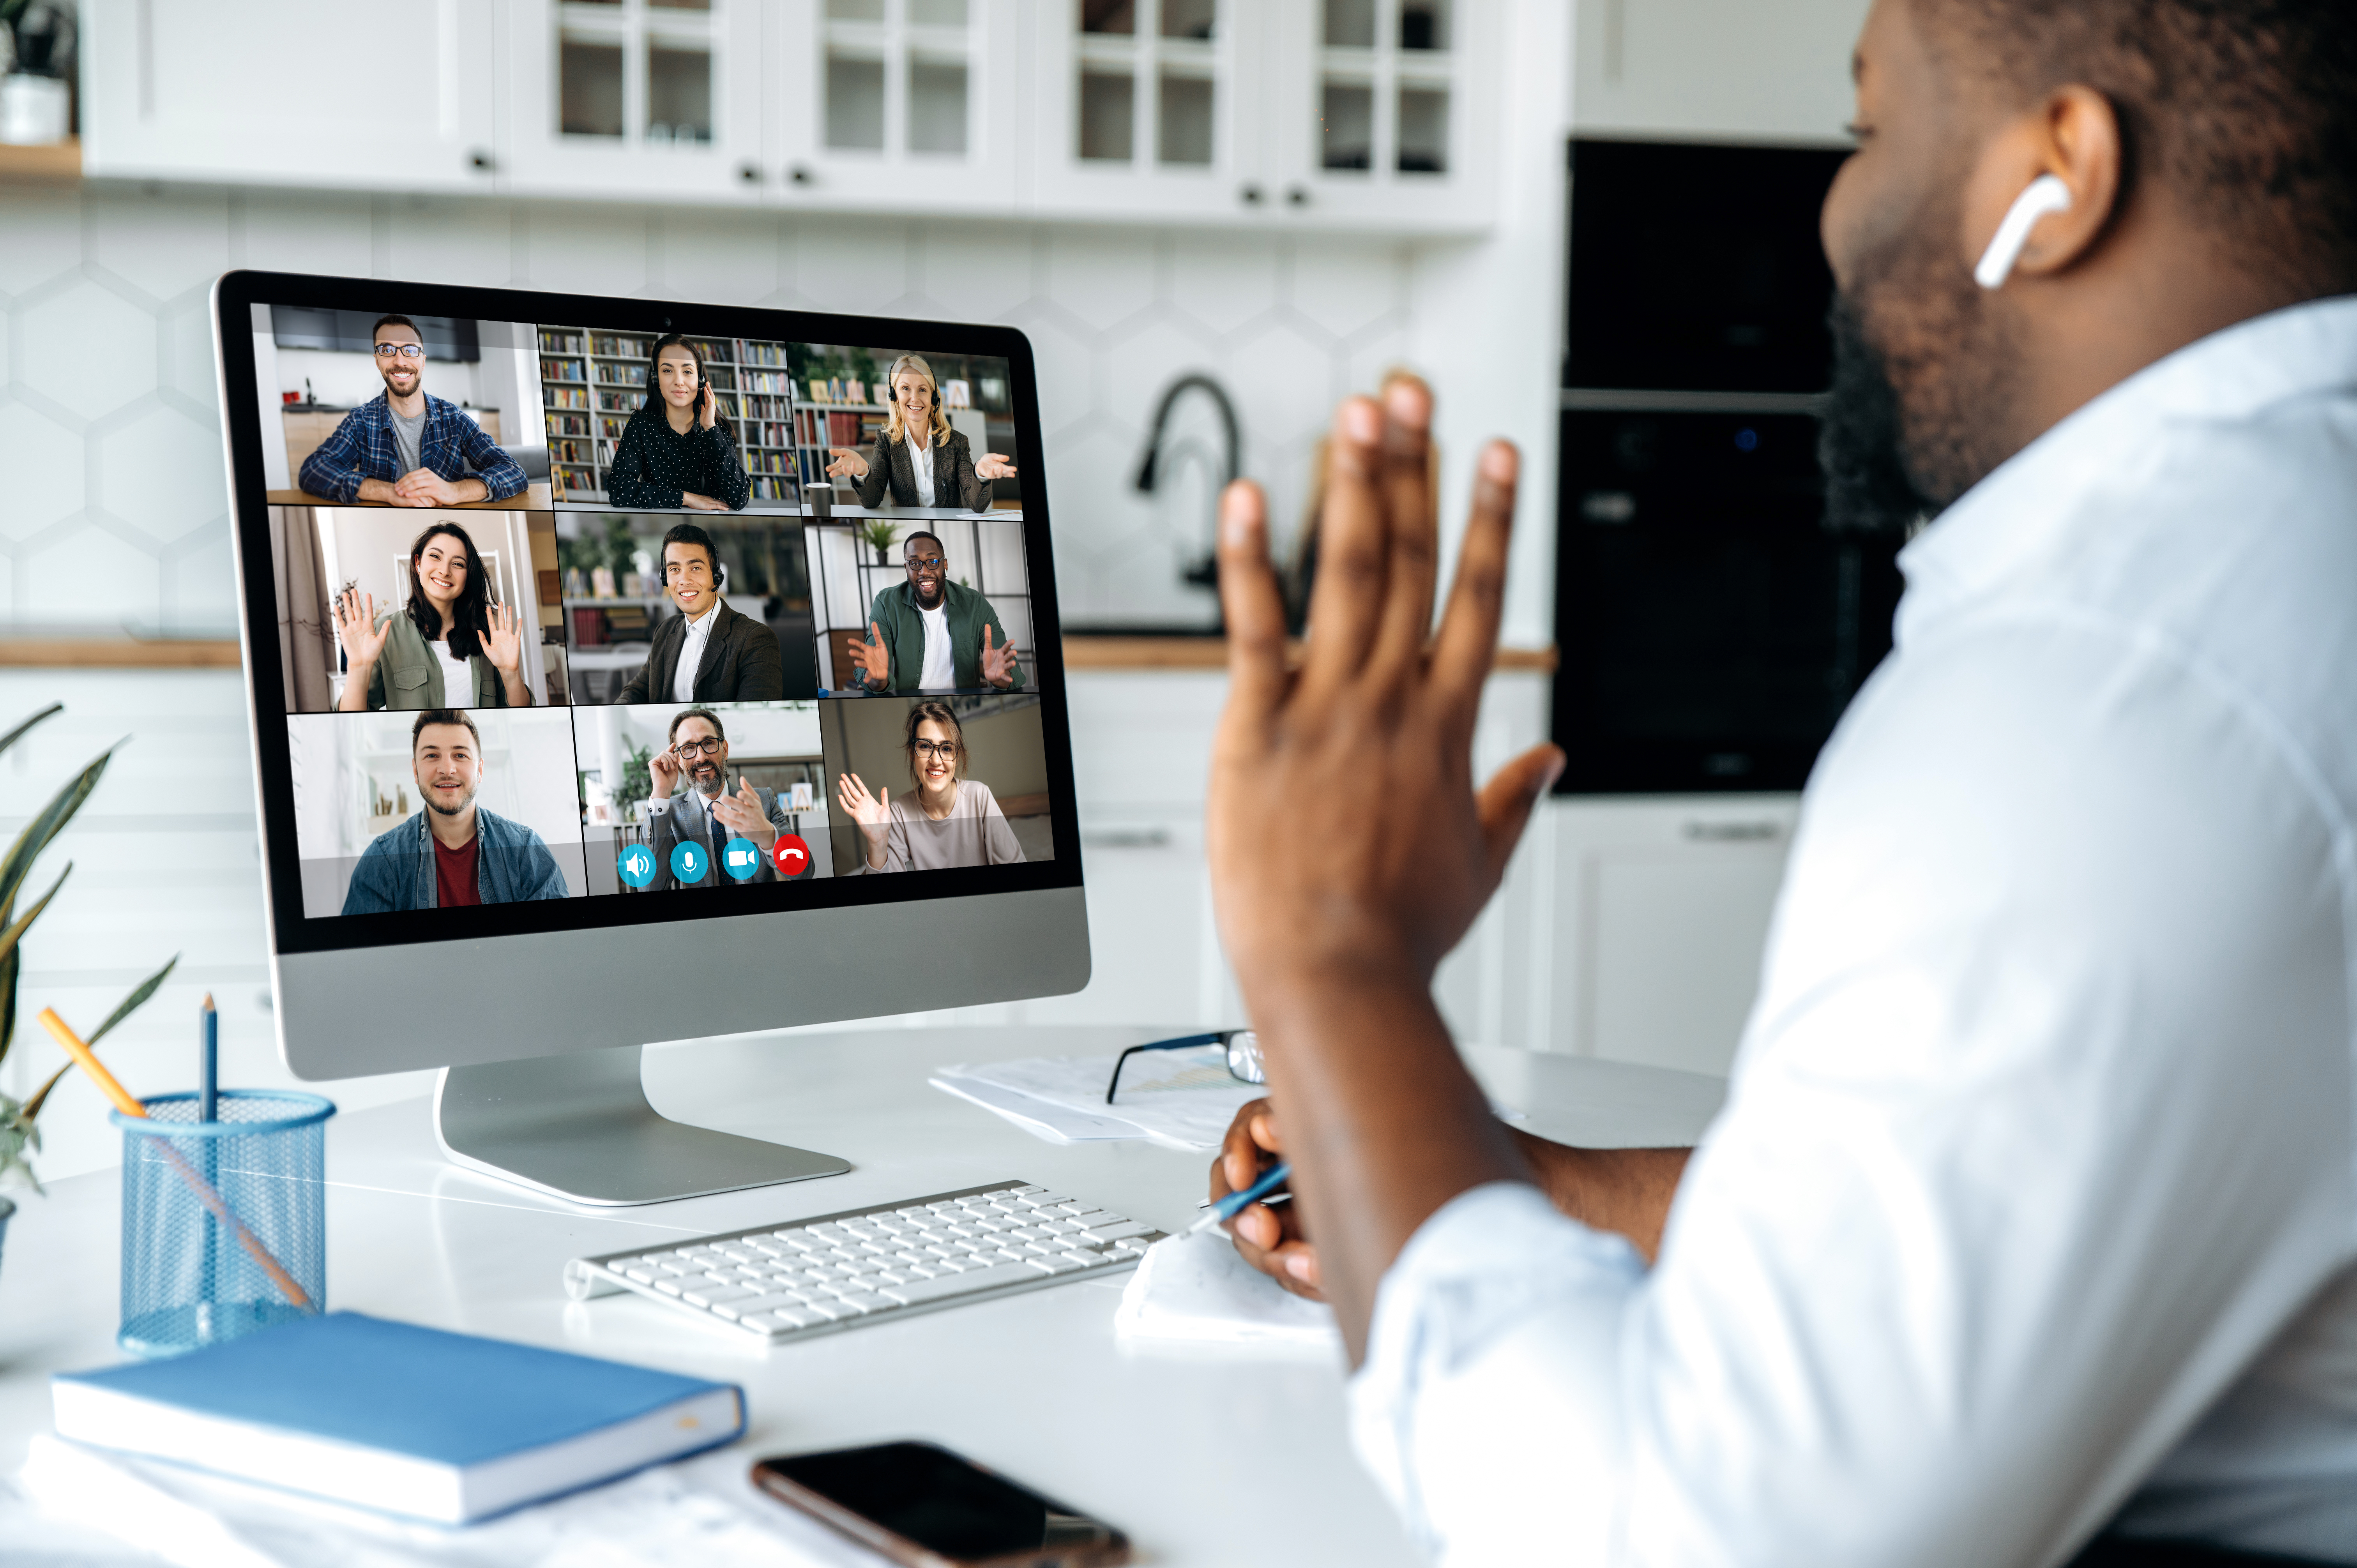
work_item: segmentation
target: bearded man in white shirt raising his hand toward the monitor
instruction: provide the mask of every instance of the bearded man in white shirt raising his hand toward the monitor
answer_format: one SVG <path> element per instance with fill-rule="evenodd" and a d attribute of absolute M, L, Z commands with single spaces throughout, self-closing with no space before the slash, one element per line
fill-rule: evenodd
<path fill-rule="evenodd" d="M 1725 1111 L 1518 1141 L 1450 1047 L 1433 964 L 1560 757 L 1475 797 L 1516 457 L 1428 641 L 1405 384 L 1336 420 L 1299 674 L 1223 502 L 1273 1111 L 1214 1186 L 1292 1158 L 1306 1233 L 1237 1231 L 1450 1563 L 2357 1561 L 2357 7 L 1879 0 L 1857 99 L 1831 500 L 1937 521 Z"/>

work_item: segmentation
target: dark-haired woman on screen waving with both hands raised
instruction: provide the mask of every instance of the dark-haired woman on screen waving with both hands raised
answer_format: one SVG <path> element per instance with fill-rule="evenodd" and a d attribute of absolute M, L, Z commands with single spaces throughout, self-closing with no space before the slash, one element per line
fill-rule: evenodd
<path fill-rule="evenodd" d="M 377 615 L 375 594 L 346 587 L 335 601 L 344 646 L 339 712 L 420 707 L 530 707 L 523 618 L 490 601 L 490 573 L 453 521 L 427 523 L 410 545 L 410 601 Z"/>

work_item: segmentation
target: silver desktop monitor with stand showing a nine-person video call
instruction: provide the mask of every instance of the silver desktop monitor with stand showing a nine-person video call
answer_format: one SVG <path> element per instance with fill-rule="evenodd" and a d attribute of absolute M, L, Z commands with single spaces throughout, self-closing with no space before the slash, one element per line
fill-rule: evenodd
<path fill-rule="evenodd" d="M 231 271 L 278 1047 L 580 1203 L 849 1170 L 648 1042 L 1089 981 L 1011 328 Z"/>

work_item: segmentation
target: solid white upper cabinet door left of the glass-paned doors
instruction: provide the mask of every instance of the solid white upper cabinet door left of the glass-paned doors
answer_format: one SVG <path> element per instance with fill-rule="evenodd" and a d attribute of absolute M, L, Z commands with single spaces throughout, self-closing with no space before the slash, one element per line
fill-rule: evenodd
<path fill-rule="evenodd" d="M 490 191 L 495 7 L 82 0 L 82 170 Z"/>

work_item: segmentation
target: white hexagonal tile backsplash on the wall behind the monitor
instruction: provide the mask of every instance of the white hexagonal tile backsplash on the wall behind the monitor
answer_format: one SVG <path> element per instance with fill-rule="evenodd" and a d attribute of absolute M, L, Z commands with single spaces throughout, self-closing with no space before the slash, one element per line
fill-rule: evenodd
<path fill-rule="evenodd" d="M 14 627 L 231 634 L 207 288 L 224 266 L 561 288 L 1030 332 L 1068 622 L 1209 620 L 1195 462 L 1131 488 L 1160 391 L 1235 396 L 1280 535 L 1334 398 L 1405 354 L 1400 243 L 750 217 L 288 191 L 0 189 L 0 615 Z"/>

